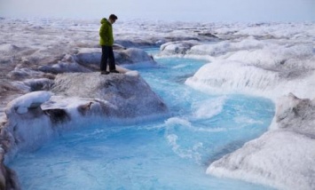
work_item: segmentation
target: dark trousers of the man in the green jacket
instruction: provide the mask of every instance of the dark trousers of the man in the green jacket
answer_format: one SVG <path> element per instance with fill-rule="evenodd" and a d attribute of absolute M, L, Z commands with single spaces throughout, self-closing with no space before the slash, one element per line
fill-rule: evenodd
<path fill-rule="evenodd" d="M 116 69 L 114 65 L 114 51 L 112 46 L 102 45 L 102 58 L 100 59 L 100 70 L 106 71 L 107 59 L 109 71 Z"/>

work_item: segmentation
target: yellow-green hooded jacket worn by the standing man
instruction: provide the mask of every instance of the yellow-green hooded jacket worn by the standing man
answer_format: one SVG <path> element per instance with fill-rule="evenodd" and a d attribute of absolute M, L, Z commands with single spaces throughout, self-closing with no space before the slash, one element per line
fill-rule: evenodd
<path fill-rule="evenodd" d="M 99 28 L 99 44 L 106 45 L 106 46 L 113 46 L 114 44 L 114 37 L 113 37 L 113 28 L 112 24 L 103 18 L 100 20 L 100 28 Z"/>

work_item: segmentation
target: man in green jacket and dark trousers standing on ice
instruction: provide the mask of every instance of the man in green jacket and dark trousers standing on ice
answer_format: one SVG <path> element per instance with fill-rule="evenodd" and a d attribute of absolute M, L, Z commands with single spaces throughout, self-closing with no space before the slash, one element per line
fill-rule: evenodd
<path fill-rule="evenodd" d="M 100 73 L 102 75 L 107 75 L 109 72 L 111 73 L 119 73 L 116 70 L 114 64 L 114 36 L 113 36 L 113 28 L 112 25 L 117 20 L 117 16 L 114 14 L 109 15 L 108 20 L 103 18 L 100 20 L 100 28 L 99 28 L 99 44 L 102 46 L 102 57 L 100 59 Z M 106 71 L 107 68 L 107 60 L 109 65 L 109 72 Z"/>

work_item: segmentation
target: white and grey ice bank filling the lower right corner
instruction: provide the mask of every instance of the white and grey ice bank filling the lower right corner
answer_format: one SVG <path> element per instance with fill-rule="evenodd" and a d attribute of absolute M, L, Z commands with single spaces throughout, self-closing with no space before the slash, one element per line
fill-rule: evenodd
<path fill-rule="evenodd" d="M 271 131 L 212 162 L 207 173 L 280 189 L 315 189 L 315 102 L 289 94 Z"/>

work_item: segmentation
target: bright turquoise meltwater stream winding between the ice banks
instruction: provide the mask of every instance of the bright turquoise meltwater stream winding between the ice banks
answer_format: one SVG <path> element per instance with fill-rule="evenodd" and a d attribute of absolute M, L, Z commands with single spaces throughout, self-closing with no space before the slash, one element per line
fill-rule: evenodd
<path fill-rule="evenodd" d="M 158 67 L 132 69 L 164 99 L 169 117 L 60 132 L 9 164 L 23 189 L 271 189 L 214 178 L 206 170 L 267 131 L 272 101 L 195 91 L 184 82 L 205 61 L 156 60 Z"/>

